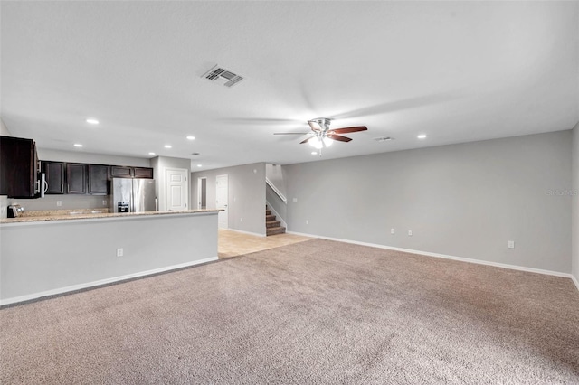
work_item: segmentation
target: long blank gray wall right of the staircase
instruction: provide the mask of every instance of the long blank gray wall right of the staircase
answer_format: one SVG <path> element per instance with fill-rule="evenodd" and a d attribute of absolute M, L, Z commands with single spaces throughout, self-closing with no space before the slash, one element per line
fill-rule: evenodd
<path fill-rule="evenodd" d="M 571 188 L 571 135 L 284 166 L 286 221 L 290 231 L 570 273 L 571 197 L 556 192 Z"/>

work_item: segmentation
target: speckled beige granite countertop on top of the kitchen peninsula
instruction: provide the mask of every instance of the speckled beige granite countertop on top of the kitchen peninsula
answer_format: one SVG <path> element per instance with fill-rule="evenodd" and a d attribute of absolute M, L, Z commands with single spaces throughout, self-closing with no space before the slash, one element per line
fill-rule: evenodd
<path fill-rule="evenodd" d="M 55 213 L 55 211 L 58 211 Z M 95 212 L 101 211 L 101 212 Z M 107 212 L 102 212 L 107 211 Z M 50 211 L 29 211 L 18 218 L 7 218 L 0 220 L 0 224 L 38 222 L 38 221 L 74 221 L 74 220 L 92 220 L 98 218 L 118 218 L 118 217 L 136 217 L 136 216 L 154 216 L 154 215 L 175 215 L 175 214 L 195 214 L 202 212 L 218 212 L 221 210 L 184 210 L 184 211 L 146 211 L 146 212 L 108 212 L 108 209 L 89 209 L 89 210 L 50 210 Z M 34 215 L 38 213 L 38 215 Z"/>

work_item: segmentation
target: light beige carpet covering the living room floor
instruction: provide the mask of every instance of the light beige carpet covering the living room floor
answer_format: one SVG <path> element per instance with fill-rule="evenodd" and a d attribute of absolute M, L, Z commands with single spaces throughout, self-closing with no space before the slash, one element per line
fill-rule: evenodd
<path fill-rule="evenodd" d="M 0 310 L 0 383 L 579 383 L 567 278 L 308 240 Z"/>

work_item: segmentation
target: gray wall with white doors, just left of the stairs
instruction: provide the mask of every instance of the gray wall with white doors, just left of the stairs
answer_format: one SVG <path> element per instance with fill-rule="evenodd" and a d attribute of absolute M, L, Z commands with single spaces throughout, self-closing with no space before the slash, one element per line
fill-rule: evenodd
<path fill-rule="evenodd" d="M 207 209 L 214 209 L 215 177 L 223 174 L 229 175 L 229 228 L 265 235 L 264 163 L 244 164 L 191 174 L 193 208 L 197 208 L 198 202 L 197 178 L 207 178 Z"/>

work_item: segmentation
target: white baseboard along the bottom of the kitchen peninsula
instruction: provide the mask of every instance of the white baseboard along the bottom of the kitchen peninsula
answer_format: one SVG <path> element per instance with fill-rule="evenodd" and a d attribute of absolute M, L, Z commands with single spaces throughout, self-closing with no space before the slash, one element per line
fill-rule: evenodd
<path fill-rule="evenodd" d="M 152 270 L 140 271 L 138 273 L 128 274 L 126 276 L 100 279 L 98 281 L 88 282 L 85 284 L 59 287 L 59 288 L 52 289 L 52 290 L 46 290 L 46 291 L 41 291 L 38 293 L 28 294 L 26 296 L 14 296 L 12 298 L 6 298 L 6 299 L 0 300 L 0 306 L 1 305 L 15 304 L 18 302 L 30 301 L 31 299 L 36 299 L 36 298 L 40 298 L 43 296 L 54 296 L 54 295 L 58 295 L 58 294 L 62 294 L 62 293 L 68 293 L 71 291 L 81 290 L 81 289 L 88 288 L 88 287 L 107 285 L 107 284 L 110 284 L 113 282 L 124 281 L 124 280 L 131 279 L 131 278 L 150 276 L 152 274 L 162 273 L 162 272 L 168 271 L 168 270 L 175 270 L 177 268 L 188 268 L 190 266 L 200 265 L 202 263 L 213 262 L 214 260 L 217 260 L 217 257 L 194 260 L 192 262 L 185 262 L 185 263 L 181 263 L 178 265 L 166 266 L 165 268 L 154 268 Z"/>

